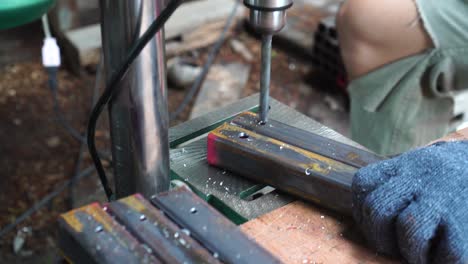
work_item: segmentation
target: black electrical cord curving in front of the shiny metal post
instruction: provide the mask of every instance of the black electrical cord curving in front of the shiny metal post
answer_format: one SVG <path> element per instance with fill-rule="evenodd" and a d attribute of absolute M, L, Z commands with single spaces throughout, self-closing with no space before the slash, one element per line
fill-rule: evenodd
<path fill-rule="evenodd" d="M 149 26 L 145 33 L 135 42 L 135 44 L 130 49 L 130 52 L 126 56 L 124 62 L 119 66 L 115 74 L 112 75 L 110 81 L 106 86 L 106 89 L 99 98 L 89 118 L 87 133 L 88 149 L 91 158 L 93 159 L 94 165 L 96 166 L 96 170 L 98 172 L 99 179 L 101 180 L 101 184 L 109 200 L 113 200 L 114 197 L 112 189 L 110 188 L 109 183 L 107 181 L 106 172 L 104 171 L 104 167 L 102 166 L 101 160 L 99 159 L 99 155 L 96 149 L 95 132 L 97 121 L 105 106 L 109 103 L 109 101 L 113 99 L 114 95 L 118 93 L 120 89 L 120 86 L 118 86 L 118 84 L 127 74 L 128 69 L 130 68 L 133 61 L 138 57 L 138 55 L 146 46 L 146 44 L 148 44 L 148 42 L 154 37 L 154 35 L 164 26 L 164 24 L 167 22 L 167 20 L 171 17 L 171 15 L 182 2 L 183 0 L 170 1 L 167 4 L 166 8 L 160 13 L 158 18 L 156 18 L 156 20 Z"/>

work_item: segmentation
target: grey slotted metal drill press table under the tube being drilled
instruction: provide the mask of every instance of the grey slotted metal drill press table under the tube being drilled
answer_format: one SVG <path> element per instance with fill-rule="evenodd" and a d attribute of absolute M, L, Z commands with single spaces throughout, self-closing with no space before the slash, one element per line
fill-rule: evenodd
<path fill-rule="evenodd" d="M 259 198 L 245 199 L 243 196 L 246 192 L 265 185 L 231 171 L 210 166 L 207 162 L 208 133 L 243 112 L 255 111 L 258 102 L 258 94 L 252 95 L 169 130 L 170 166 L 173 178 L 188 184 L 203 199 L 225 212 L 225 215 L 237 224 L 257 218 L 296 200 L 276 191 Z M 272 120 L 362 148 L 343 135 L 273 98 L 270 105 Z M 216 202 L 213 204 L 213 201 Z"/>

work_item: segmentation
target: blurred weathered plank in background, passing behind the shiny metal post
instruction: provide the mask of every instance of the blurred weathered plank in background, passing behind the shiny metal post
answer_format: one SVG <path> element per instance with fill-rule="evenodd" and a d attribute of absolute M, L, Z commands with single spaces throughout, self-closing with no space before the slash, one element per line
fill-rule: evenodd
<path fill-rule="evenodd" d="M 214 43 L 221 34 L 233 6 L 233 0 L 202 0 L 181 5 L 164 26 L 165 38 L 168 41 L 167 55 Z M 238 8 L 236 19 L 242 18 L 244 13 L 243 7 Z M 71 29 L 64 35 L 74 50 L 70 56 L 76 56 L 71 58 L 72 61 L 78 60 L 81 66 L 99 62 L 102 45 L 100 24 Z"/>

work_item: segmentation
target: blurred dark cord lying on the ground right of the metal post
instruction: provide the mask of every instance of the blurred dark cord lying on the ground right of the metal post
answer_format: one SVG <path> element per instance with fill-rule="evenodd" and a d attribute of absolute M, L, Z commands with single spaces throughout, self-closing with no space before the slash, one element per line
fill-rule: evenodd
<path fill-rule="evenodd" d="M 239 6 L 239 1 L 235 1 L 234 7 L 231 11 L 231 14 L 229 15 L 228 20 L 226 21 L 226 24 L 224 24 L 223 31 L 221 32 L 221 35 L 219 36 L 218 40 L 216 41 L 215 44 L 213 44 L 212 48 L 209 51 L 208 58 L 205 62 L 205 65 L 203 65 L 202 72 L 200 75 L 197 77 L 195 82 L 193 83 L 192 87 L 190 87 L 190 90 L 188 93 L 185 95 L 184 99 L 182 100 L 182 103 L 177 107 L 177 109 L 171 113 L 170 115 L 170 120 L 173 121 L 177 119 L 177 117 L 184 111 L 184 109 L 189 105 L 189 103 L 193 100 L 195 94 L 197 93 L 198 89 L 200 89 L 203 81 L 206 78 L 206 75 L 208 74 L 211 65 L 213 64 L 214 60 L 216 59 L 216 56 L 218 55 L 223 43 L 224 39 L 226 37 L 226 34 L 231 27 L 232 22 L 234 21 L 234 18 L 237 13 L 237 8 Z"/>

